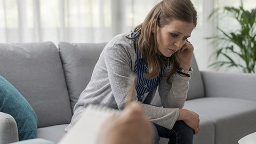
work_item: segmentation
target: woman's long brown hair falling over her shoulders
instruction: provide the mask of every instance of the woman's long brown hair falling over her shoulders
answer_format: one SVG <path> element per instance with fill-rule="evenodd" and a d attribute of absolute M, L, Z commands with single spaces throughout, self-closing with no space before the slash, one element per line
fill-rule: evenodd
<path fill-rule="evenodd" d="M 164 56 L 161 55 L 161 61 L 158 63 L 156 55 L 156 53 L 159 53 L 157 37 L 151 31 L 154 19 L 155 31 L 157 31 L 157 26 L 162 28 L 173 19 L 193 22 L 196 27 L 197 12 L 190 0 L 163 0 L 153 7 L 143 23 L 134 28 L 134 31 L 137 31 L 135 37 L 139 36 L 139 51 L 142 54 L 143 60 L 147 61 L 149 73 L 145 74 L 145 77 L 157 77 L 161 67 L 165 66 L 167 62 L 169 67 L 171 67 L 171 71 L 165 74 L 165 76 L 167 76 L 167 83 L 170 84 L 171 76 L 178 70 L 180 61 L 176 53 L 174 53 L 170 58 L 166 58 L 167 60 L 164 60 Z"/>

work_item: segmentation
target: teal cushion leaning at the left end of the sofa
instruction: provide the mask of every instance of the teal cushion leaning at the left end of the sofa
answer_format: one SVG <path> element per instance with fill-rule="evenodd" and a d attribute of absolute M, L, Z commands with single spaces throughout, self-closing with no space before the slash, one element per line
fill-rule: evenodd
<path fill-rule="evenodd" d="M 37 137 L 37 116 L 28 101 L 15 87 L 0 76 L 0 111 L 16 121 L 19 140 Z"/>

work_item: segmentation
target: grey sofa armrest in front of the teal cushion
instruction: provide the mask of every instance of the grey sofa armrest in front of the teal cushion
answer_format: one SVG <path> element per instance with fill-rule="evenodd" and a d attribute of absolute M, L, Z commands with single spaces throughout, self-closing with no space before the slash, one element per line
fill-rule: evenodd
<path fill-rule="evenodd" d="M 0 111 L 0 143 L 19 141 L 18 127 L 15 119 Z"/>

